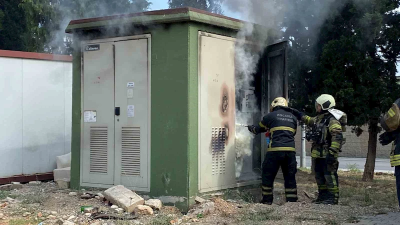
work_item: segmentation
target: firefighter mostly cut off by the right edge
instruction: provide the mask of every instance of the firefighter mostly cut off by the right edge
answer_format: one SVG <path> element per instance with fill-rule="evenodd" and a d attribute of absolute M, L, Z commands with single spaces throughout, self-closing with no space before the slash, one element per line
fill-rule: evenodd
<path fill-rule="evenodd" d="M 379 135 L 379 143 L 387 145 L 393 140 L 390 151 L 390 165 L 394 166 L 396 177 L 397 199 L 400 206 L 400 98 L 392 104 L 391 108 L 380 119 L 384 133 Z"/>

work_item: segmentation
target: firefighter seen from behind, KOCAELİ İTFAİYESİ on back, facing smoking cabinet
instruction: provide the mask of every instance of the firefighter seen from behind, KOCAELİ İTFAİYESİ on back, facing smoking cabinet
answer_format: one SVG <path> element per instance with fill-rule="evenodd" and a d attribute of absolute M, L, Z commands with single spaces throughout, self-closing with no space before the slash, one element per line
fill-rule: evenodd
<path fill-rule="evenodd" d="M 270 105 L 270 113 L 265 115 L 257 125 L 249 125 L 248 130 L 254 134 L 270 132 L 265 159 L 262 162 L 262 200 L 260 203 L 272 204 L 273 180 L 282 169 L 286 201 L 297 201 L 295 174 L 297 172 L 294 135 L 297 119 L 287 107 L 283 97 L 275 98 Z"/>

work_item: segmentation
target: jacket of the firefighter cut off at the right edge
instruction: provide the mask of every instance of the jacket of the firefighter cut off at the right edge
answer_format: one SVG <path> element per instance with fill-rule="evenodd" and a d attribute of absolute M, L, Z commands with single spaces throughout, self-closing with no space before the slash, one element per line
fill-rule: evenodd
<path fill-rule="evenodd" d="M 396 137 L 391 145 L 390 165 L 400 165 L 400 98 L 391 105 L 390 109 L 380 120 L 380 125 L 386 131 L 395 133 Z"/>

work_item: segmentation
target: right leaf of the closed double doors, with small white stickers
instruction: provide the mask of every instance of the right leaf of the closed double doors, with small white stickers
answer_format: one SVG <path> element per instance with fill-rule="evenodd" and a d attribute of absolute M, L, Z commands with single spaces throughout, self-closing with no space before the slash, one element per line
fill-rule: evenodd
<path fill-rule="evenodd" d="M 115 45 L 115 174 L 114 184 L 147 188 L 148 183 L 148 54 L 147 38 Z M 128 106 L 130 111 L 128 112 Z M 133 107 L 132 107 L 133 106 Z"/>

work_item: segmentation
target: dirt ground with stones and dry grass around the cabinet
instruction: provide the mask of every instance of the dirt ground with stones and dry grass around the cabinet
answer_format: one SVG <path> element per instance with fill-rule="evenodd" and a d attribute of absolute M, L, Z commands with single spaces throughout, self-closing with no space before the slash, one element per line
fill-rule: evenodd
<path fill-rule="evenodd" d="M 398 211 L 395 180 L 392 174 L 375 174 L 372 182 L 362 182 L 360 172 L 339 172 L 339 205 L 311 203 L 315 197 L 316 184 L 309 171 L 298 171 L 298 202 L 284 202 L 283 186 L 275 184 L 275 199 L 272 205 L 253 203 L 251 195 L 237 194 L 235 199 L 210 198 L 214 207 L 204 213 L 188 217 L 173 206 L 164 206 L 151 216 L 136 219 L 93 219 L 84 215 L 80 206 L 93 205 L 101 212 L 111 213 L 110 206 L 96 198 L 81 199 L 69 196 L 72 190 L 58 189 L 54 182 L 43 182 L 38 186 L 23 185 L 21 189 L 1 191 L 0 199 L 15 200 L 0 202 L 0 225 L 62 224 L 59 218 L 75 224 L 342 224 L 356 222 L 357 216 Z M 97 193 L 98 191 L 91 191 Z M 231 195 L 230 195 L 231 196 Z M 200 208 L 203 204 L 194 205 Z M 123 214 L 122 214 L 123 215 Z"/>

